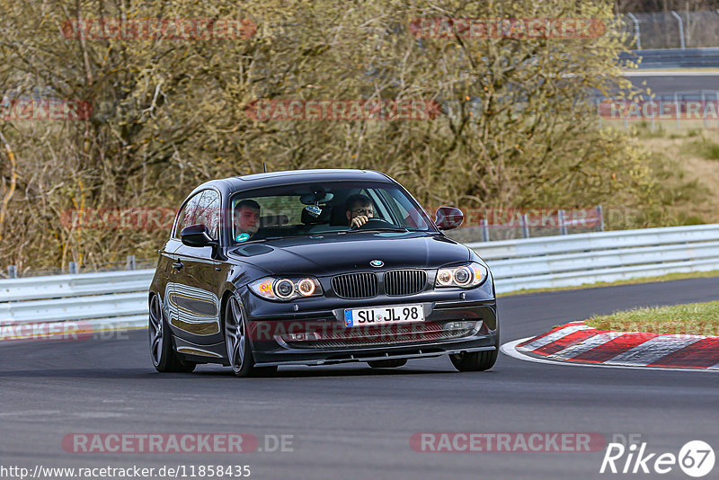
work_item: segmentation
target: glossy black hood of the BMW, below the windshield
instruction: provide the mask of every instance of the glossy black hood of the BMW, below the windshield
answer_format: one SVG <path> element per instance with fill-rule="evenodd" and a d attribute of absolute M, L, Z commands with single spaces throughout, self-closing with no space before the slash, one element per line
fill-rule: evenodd
<path fill-rule="evenodd" d="M 371 270 L 369 262 L 373 260 L 384 262 L 381 269 L 385 270 L 437 268 L 446 263 L 466 262 L 470 258 L 466 246 L 445 236 L 421 232 L 290 237 L 246 244 L 228 254 L 271 274 L 318 276 Z"/>

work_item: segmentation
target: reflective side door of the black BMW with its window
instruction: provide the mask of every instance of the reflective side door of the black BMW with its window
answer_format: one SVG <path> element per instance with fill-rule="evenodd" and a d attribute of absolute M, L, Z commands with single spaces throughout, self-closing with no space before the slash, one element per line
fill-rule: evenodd
<path fill-rule="evenodd" d="M 215 190 L 200 192 L 194 203 L 195 211 L 184 222 L 189 226 L 202 224 L 208 227 L 213 240 L 219 237 L 220 194 Z M 182 229 L 181 229 L 182 231 Z M 177 281 L 174 283 L 173 300 L 178 318 L 173 323 L 176 335 L 191 345 L 178 345 L 178 351 L 202 354 L 193 345 L 209 345 L 222 341 L 220 334 L 218 290 L 221 284 L 222 262 L 213 258 L 211 246 L 188 246 L 181 244 L 174 252 L 177 265 Z M 206 352 L 209 354 L 209 351 Z"/>

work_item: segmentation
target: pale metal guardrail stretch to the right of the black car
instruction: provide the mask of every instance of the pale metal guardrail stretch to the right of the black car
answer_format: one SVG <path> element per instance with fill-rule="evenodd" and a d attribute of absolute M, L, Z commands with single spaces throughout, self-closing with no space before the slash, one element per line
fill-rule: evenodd
<path fill-rule="evenodd" d="M 501 293 L 719 270 L 719 225 L 644 228 L 467 246 L 490 265 Z"/>

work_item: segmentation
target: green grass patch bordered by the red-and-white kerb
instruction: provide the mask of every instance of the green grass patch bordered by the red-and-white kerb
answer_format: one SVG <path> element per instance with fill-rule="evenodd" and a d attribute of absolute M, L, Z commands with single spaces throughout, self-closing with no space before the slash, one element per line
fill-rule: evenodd
<path fill-rule="evenodd" d="M 619 332 L 719 335 L 719 301 L 673 307 L 636 308 L 592 316 L 586 324 Z"/>

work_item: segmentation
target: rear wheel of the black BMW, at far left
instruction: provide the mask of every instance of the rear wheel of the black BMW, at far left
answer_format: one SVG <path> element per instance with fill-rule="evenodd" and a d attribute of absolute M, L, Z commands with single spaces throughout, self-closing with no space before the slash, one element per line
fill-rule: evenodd
<path fill-rule="evenodd" d="M 197 363 L 182 360 L 175 351 L 173 335 L 164 319 L 160 296 L 156 293 L 150 297 L 147 331 L 150 341 L 150 359 L 158 372 L 190 373 L 195 369 Z"/>

